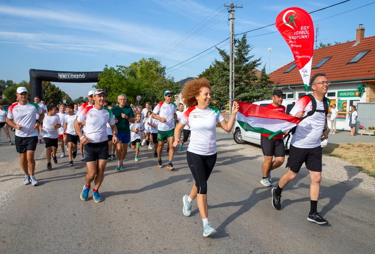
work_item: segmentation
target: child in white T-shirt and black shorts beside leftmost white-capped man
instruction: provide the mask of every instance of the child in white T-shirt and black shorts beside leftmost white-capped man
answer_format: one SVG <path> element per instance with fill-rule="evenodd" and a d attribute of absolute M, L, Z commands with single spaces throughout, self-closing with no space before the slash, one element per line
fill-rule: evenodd
<path fill-rule="evenodd" d="M 56 151 L 58 146 L 58 129 L 61 127 L 60 118 L 56 115 L 56 105 L 47 105 L 47 113 L 44 115 L 42 132 L 45 143 L 45 155 L 47 156 L 47 169 L 52 168 L 51 154 L 53 163 L 57 164 Z"/>

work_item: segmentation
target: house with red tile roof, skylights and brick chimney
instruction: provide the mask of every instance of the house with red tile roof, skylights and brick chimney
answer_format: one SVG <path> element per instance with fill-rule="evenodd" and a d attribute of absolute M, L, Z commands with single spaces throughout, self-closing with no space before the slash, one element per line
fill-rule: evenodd
<path fill-rule="evenodd" d="M 315 49 L 311 76 L 317 72 L 325 72 L 330 81 L 326 96 L 339 110 L 337 129 L 348 130 L 349 105 L 375 102 L 375 36 L 365 38 L 364 27 L 360 24 L 356 28 L 355 41 Z M 285 98 L 298 99 L 306 94 L 294 61 L 269 76 L 273 85 L 284 92 Z"/>

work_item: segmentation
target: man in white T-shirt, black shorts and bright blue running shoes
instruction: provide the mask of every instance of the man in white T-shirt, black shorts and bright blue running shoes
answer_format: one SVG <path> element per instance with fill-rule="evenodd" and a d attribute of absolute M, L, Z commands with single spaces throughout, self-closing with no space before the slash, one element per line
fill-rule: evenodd
<path fill-rule="evenodd" d="M 87 200 L 91 182 L 94 180 L 92 198 L 95 202 L 102 201 L 99 194 L 99 187 L 104 178 L 104 169 L 108 158 L 108 136 L 106 123 L 112 129 L 112 141 L 115 144 L 117 139 L 117 128 L 114 122 L 113 113 L 104 107 L 106 99 L 104 89 L 93 91 L 94 104 L 84 107 L 79 113 L 74 123 L 75 132 L 78 134 L 80 142 L 84 145 L 87 174 L 85 185 L 80 193 L 80 199 Z M 86 122 L 84 135 L 81 131 L 82 122 Z"/>

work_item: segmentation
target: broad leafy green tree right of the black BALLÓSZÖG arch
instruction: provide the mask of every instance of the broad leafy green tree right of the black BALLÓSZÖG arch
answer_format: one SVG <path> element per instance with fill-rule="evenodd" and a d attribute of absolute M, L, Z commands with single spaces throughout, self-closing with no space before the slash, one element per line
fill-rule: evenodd
<path fill-rule="evenodd" d="M 127 103 L 137 104 L 135 97 L 141 95 L 140 104 L 145 101 L 156 104 L 163 100 L 164 90 L 180 92 L 178 83 L 164 73 L 165 66 L 153 58 L 142 58 L 129 66 L 117 65 L 116 68 L 105 65 L 96 87 L 106 89 L 109 102 L 117 102 L 117 96 L 123 93 Z"/>

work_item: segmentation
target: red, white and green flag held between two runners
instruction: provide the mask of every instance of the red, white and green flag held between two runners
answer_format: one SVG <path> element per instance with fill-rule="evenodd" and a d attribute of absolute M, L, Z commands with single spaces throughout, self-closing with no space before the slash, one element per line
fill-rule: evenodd
<path fill-rule="evenodd" d="M 270 134 L 269 139 L 282 134 L 301 120 L 290 114 L 268 109 L 256 104 L 237 101 L 239 105 L 235 116 L 238 124 L 246 131 Z"/>

